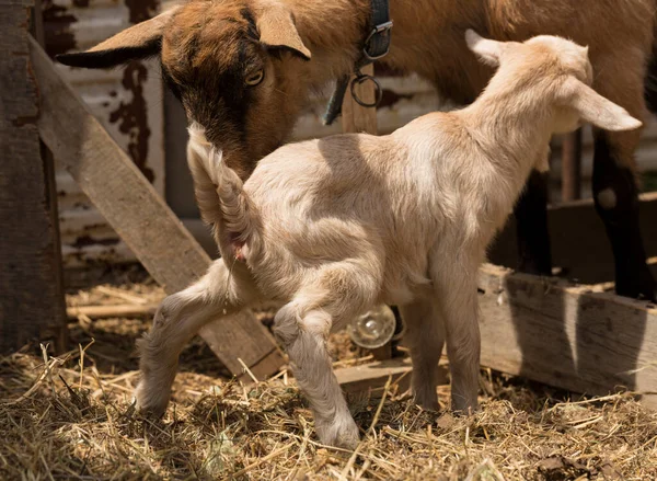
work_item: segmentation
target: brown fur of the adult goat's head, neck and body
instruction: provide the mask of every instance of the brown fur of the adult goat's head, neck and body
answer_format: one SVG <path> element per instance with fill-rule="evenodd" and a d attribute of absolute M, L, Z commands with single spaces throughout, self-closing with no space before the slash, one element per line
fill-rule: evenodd
<path fill-rule="evenodd" d="M 462 39 L 466 27 L 504 41 L 560 35 L 589 45 L 597 71 L 595 88 L 643 117 L 655 8 L 655 0 L 392 0 L 392 48 L 381 62 L 417 72 L 446 98 L 469 103 L 481 92 L 492 69 L 469 55 Z M 252 38 L 252 44 L 244 41 L 249 32 L 253 33 L 244 12 L 253 16 L 260 43 L 257 38 Z M 191 0 L 170 16 L 151 21 L 154 23 L 148 24 L 142 35 L 152 37 L 154 30 L 161 30 L 164 70 L 171 73 L 191 119 L 207 128 L 209 140 L 245 179 L 257 160 L 287 139 L 309 90 L 351 69 L 368 23 L 369 2 Z M 130 28 L 93 51 L 138 43 L 138 26 Z M 289 51 L 300 55 L 290 56 L 267 45 L 286 42 Z M 296 58 L 308 57 L 310 51 L 310 62 Z M 88 66 L 93 67 L 93 61 Z M 229 115 L 231 108 L 218 104 L 232 95 L 244 75 L 257 68 L 264 68 L 267 80 L 250 89 L 247 99 L 241 99 L 245 115 L 237 122 Z M 231 69 L 232 77 L 223 76 Z M 219 92 L 200 91 L 204 85 L 197 83 L 201 78 L 221 78 L 205 85 Z M 209 106 L 200 106 L 204 103 Z M 621 161 L 632 165 L 638 133 L 610 138 Z"/>

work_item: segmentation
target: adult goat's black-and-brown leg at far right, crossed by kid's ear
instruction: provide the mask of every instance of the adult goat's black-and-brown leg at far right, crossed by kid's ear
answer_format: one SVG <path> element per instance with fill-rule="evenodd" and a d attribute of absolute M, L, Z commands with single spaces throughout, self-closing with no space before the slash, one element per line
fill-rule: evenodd
<path fill-rule="evenodd" d="M 601 62 L 595 87 L 600 94 L 622 105 L 636 118 L 646 116 L 644 58 L 638 51 L 614 53 Z M 616 66 L 623 65 L 619 76 Z M 633 67 L 632 67 L 633 66 Z M 634 150 L 641 131 L 597 130 L 593 157 L 593 198 L 604 222 L 615 266 L 616 294 L 657 300 L 657 283 L 646 264 L 639 228 L 639 202 Z"/>

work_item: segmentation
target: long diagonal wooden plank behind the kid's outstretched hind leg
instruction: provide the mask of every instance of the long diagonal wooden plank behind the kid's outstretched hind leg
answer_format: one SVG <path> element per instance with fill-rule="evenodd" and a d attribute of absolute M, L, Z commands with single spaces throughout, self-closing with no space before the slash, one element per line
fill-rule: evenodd
<path fill-rule="evenodd" d="M 188 286 L 206 272 L 209 256 L 34 41 L 30 55 L 42 94 L 38 129 L 48 148 L 169 294 Z M 243 370 L 238 357 L 255 367 L 276 352 L 266 329 L 247 312 L 215 322 L 200 335 L 233 374 Z M 268 364 L 267 375 L 279 360 L 276 368 L 276 362 Z"/>

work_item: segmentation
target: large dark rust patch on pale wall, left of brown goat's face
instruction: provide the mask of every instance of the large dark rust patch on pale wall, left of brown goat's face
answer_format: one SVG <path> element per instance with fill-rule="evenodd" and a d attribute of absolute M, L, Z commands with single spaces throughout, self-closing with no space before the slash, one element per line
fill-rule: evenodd
<path fill-rule="evenodd" d="M 110 123 L 118 123 L 122 134 L 129 136 L 128 154 L 141 170 L 143 175 L 152 182 L 154 173 L 146 163 L 148 160 L 148 139 L 151 130 L 148 125 L 148 110 L 143 96 L 143 83 L 148 77 L 148 70 L 143 64 L 132 61 L 124 70 L 122 84 L 124 89 L 132 94 L 132 99 L 120 102 L 118 108 L 110 113 Z"/>

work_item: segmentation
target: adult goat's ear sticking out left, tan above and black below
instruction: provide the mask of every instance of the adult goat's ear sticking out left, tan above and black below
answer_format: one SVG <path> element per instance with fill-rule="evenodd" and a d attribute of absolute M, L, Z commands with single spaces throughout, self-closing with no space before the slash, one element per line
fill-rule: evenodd
<path fill-rule="evenodd" d="M 56 59 L 70 67 L 111 68 L 158 55 L 162 48 L 162 33 L 178 8 L 174 7 L 151 20 L 132 25 L 90 50 L 61 54 Z"/>

